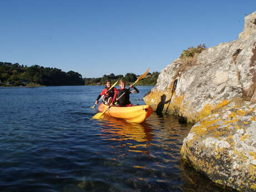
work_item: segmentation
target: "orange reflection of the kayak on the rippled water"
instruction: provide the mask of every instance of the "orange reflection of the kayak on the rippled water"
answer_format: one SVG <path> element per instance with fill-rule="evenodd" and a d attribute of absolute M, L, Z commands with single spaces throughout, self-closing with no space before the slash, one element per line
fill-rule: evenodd
<path fill-rule="evenodd" d="M 104 116 L 104 120 L 106 121 L 100 121 L 100 124 L 103 127 L 102 135 L 107 140 L 135 140 L 145 142 L 153 139 L 152 128 L 146 122 L 136 124 L 109 116 Z"/>

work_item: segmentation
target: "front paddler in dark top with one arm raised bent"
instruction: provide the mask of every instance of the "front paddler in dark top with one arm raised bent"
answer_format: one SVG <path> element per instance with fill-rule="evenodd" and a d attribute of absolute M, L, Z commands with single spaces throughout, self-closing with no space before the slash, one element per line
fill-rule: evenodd
<path fill-rule="evenodd" d="M 137 88 L 134 85 L 130 85 L 130 88 L 134 88 L 134 90 L 130 90 L 125 88 L 126 86 L 126 81 L 125 80 L 120 80 L 119 81 L 119 90 L 117 90 L 115 92 L 114 98 L 112 100 L 112 103 L 110 104 L 110 106 L 114 105 L 114 103 L 117 100 L 117 107 L 130 107 L 131 102 L 130 102 L 130 94 L 131 93 L 139 93 L 139 90 L 137 90 Z M 122 95 L 124 93 L 124 95 Z M 122 95 L 122 96 L 121 96 Z M 121 97 L 120 97 L 121 96 Z M 120 98 L 119 98 L 120 97 Z"/>

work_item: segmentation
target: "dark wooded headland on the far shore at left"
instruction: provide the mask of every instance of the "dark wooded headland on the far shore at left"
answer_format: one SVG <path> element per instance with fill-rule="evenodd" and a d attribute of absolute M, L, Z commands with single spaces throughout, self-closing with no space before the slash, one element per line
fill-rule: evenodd
<path fill-rule="evenodd" d="M 82 76 L 58 68 L 31 67 L 19 63 L 0 62 L 0 86 L 84 85 Z"/>

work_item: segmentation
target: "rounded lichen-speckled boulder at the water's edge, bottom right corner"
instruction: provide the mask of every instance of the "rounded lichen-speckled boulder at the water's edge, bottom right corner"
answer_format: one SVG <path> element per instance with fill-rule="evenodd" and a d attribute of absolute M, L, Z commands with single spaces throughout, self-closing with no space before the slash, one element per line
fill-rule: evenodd
<path fill-rule="evenodd" d="M 195 124 L 181 155 L 215 183 L 256 191 L 256 104 L 221 110 Z"/>

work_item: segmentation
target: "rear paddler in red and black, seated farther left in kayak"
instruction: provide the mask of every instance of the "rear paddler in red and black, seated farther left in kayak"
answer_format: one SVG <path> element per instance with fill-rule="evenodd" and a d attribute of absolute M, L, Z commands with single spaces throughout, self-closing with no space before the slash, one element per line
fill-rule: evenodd
<path fill-rule="evenodd" d="M 104 102 L 104 104 L 109 105 L 112 102 L 112 99 L 115 95 L 116 87 L 111 88 L 111 90 L 109 91 L 109 88 L 111 87 L 111 81 L 107 80 L 106 82 L 106 87 L 104 88 L 104 90 L 101 91 L 100 95 L 97 97 L 96 101 L 95 101 L 95 105 L 99 104 L 100 99 L 102 98 L 102 102 Z"/>

